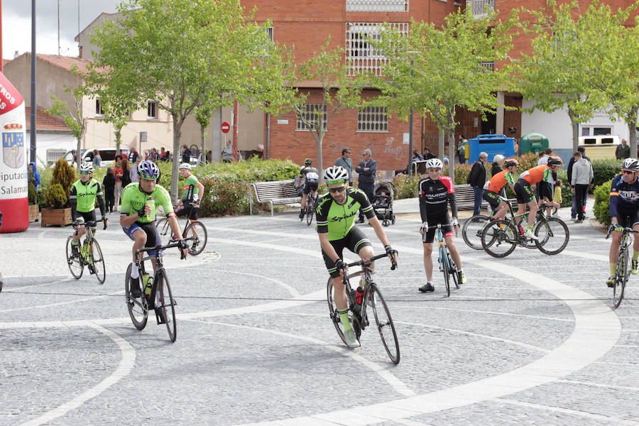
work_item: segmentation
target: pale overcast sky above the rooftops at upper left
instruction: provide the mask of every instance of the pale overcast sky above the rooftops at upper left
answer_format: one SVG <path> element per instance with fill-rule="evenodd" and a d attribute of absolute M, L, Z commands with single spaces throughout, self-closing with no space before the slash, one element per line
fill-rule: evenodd
<path fill-rule="evenodd" d="M 31 0 L 1 0 L 2 57 L 31 52 Z M 102 12 L 116 12 L 121 0 L 59 0 L 60 53 L 77 56 L 75 36 Z M 80 31 L 78 31 L 80 4 Z M 58 0 L 35 1 L 35 50 L 58 54 Z"/>

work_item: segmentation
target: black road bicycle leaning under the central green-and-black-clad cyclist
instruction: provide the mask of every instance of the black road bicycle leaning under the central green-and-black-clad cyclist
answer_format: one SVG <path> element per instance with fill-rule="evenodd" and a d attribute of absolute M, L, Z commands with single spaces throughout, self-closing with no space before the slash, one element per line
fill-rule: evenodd
<path fill-rule="evenodd" d="M 349 275 L 346 275 L 346 271 L 344 271 L 343 282 L 346 288 L 346 297 L 349 302 L 349 320 L 351 321 L 351 325 L 357 339 L 359 340 L 362 330 L 366 329 L 366 327 L 370 325 L 366 310 L 368 307 L 371 307 L 373 310 L 373 316 L 375 317 L 377 331 L 379 332 L 379 337 L 381 338 L 384 349 L 386 349 L 386 354 L 388 354 L 388 357 L 391 359 L 393 364 L 398 364 L 400 361 L 400 349 L 397 333 L 395 332 L 395 324 L 393 324 L 391 312 L 388 310 L 386 301 L 382 297 L 378 286 L 376 283 L 373 283 L 372 280 L 373 270 L 371 269 L 371 265 L 373 261 L 385 257 L 388 257 L 388 254 L 380 254 L 373 258 L 365 259 L 364 261 L 360 260 L 349 263 L 346 265 L 347 267 L 361 266 L 361 271 L 351 273 Z M 394 270 L 395 268 L 397 268 L 397 262 L 391 261 L 391 270 Z M 361 292 L 361 297 L 359 297 L 359 295 L 356 294 L 356 291 L 351 288 L 349 280 L 353 277 L 360 278 L 359 283 L 361 285 L 361 289 L 358 288 L 358 291 Z M 360 300 L 359 303 L 357 302 L 358 298 Z M 335 305 L 334 302 L 332 278 L 329 278 L 327 283 L 327 301 L 333 325 L 337 330 L 339 338 L 342 339 L 344 344 L 346 344 L 344 329 L 341 324 L 342 319 L 337 313 L 337 305 Z"/>

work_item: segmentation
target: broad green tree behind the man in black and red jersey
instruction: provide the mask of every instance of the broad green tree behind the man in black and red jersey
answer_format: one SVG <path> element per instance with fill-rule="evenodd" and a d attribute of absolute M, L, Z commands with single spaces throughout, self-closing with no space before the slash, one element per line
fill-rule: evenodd
<path fill-rule="evenodd" d="M 407 119 L 411 108 L 430 115 L 449 142 L 450 176 L 457 153 L 455 108 L 479 111 L 485 119 L 504 107 L 494 91 L 506 87 L 506 72 L 486 65 L 506 60 L 510 28 L 510 20 L 496 21 L 494 14 L 475 18 L 469 9 L 458 9 L 442 28 L 413 21 L 408 37 L 386 26 L 379 40 L 371 39 L 387 58 L 383 77 L 373 80 L 373 87 L 381 89 L 375 102 L 386 104 L 400 119 Z"/>

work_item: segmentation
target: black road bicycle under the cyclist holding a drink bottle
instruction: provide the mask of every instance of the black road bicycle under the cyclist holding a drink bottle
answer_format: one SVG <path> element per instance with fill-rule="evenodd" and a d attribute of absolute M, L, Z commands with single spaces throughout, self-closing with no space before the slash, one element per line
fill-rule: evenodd
<path fill-rule="evenodd" d="M 175 339 L 178 337 L 177 323 L 175 320 L 175 305 L 177 305 L 177 302 L 175 302 L 173 293 L 171 293 L 171 286 L 169 285 L 168 276 L 166 275 L 162 260 L 162 251 L 178 246 L 180 246 L 179 243 L 170 243 L 164 246 L 143 247 L 142 249 L 136 250 L 135 268 L 138 268 L 138 277 L 143 293 L 142 297 L 136 299 L 131 295 L 131 271 L 133 269 L 133 263 L 129 263 L 129 267 L 126 268 L 126 275 L 124 275 L 124 299 L 133 325 L 138 330 L 144 329 L 148 320 L 148 311 L 149 309 L 153 309 L 155 310 L 155 320 L 158 322 L 158 325 L 166 324 L 171 342 L 175 342 Z M 138 256 L 140 253 L 148 251 L 155 251 L 155 253 L 143 257 Z M 185 258 L 184 253 L 182 253 L 181 258 Z M 153 277 L 146 273 L 144 261 L 148 260 L 155 261 Z M 156 297 L 157 293 L 159 293 L 158 297 Z"/>

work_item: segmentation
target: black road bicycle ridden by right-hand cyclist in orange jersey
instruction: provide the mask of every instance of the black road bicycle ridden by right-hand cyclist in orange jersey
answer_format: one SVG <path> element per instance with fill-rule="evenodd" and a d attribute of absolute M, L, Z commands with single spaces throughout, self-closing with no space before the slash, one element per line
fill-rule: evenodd
<path fill-rule="evenodd" d="M 512 218 L 509 220 L 496 219 L 484 226 L 481 231 L 481 246 L 486 253 L 496 258 L 508 256 L 516 246 L 527 249 L 537 247 L 542 253 L 552 255 L 561 253 L 570 239 L 568 226 L 558 217 L 546 217 L 545 209 L 550 207 L 545 202 L 537 210 L 532 232 L 537 239 L 525 236 L 522 223 L 527 222 L 528 212 L 513 213 L 513 200 L 506 200 Z"/>

